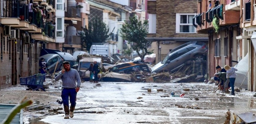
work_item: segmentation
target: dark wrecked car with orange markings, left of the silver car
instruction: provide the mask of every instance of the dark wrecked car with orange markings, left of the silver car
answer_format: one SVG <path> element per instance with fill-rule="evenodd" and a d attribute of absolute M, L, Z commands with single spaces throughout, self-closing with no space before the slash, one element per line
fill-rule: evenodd
<path fill-rule="evenodd" d="M 131 74 L 135 71 L 150 72 L 148 65 L 143 61 L 124 62 L 109 69 L 109 72 Z"/>

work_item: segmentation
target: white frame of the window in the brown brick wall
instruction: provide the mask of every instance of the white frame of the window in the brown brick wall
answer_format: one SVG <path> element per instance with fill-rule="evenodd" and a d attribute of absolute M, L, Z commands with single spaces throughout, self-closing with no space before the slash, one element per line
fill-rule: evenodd
<path fill-rule="evenodd" d="M 180 15 L 196 15 L 196 13 L 176 13 L 176 33 L 183 33 L 183 34 L 196 34 L 196 28 L 193 26 L 193 23 L 182 24 L 182 25 L 192 25 L 195 32 L 180 32 Z"/>

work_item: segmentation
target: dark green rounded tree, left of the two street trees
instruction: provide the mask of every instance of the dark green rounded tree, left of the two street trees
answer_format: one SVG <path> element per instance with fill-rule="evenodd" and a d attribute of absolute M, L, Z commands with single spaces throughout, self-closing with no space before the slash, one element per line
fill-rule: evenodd
<path fill-rule="evenodd" d="M 93 18 L 88 23 L 88 27 L 82 27 L 81 35 L 82 49 L 90 50 L 92 43 L 105 43 L 108 40 L 109 28 L 99 18 Z"/>

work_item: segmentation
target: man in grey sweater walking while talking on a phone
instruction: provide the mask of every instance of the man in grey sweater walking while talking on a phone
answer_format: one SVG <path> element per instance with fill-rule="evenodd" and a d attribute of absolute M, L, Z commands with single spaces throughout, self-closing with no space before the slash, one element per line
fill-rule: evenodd
<path fill-rule="evenodd" d="M 58 73 L 55 77 L 55 81 L 61 79 L 62 87 L 61 87 L 61 98 L 63 101 L 65 117 L 64 119 L 68 119 L 69 117 L 73 118 L 73 112 L 76 106 L 76 94 L 80 89 L 81 79 L 76 69 L 70 68 L 70 63 L 68 61 L 63 62 L 63 69 Z M 77 81 L 77 85 L 76 85 Z M 70 110 L 68 99 L 70 99 Z"/>

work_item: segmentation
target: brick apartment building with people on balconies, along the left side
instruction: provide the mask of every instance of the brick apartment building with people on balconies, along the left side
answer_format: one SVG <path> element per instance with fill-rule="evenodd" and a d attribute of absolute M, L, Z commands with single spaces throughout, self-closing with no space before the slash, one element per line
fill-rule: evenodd
<path fill-rule="evenodd" d="M 34 0 L 44 8 L 43 14 L 48 20 L 45 23 L 42 16 L 29 9 L 29 1 L 0 2 L 0 89 L 3 89 L 19 84 L 19 77 L 38 73 L 40 50 L 47 42 L 55 42 L 54 27 L 49 21 L 54 20 L 51 14 L 54 13 L 55 2 Z M 29 12 L 33 14 L 29 15 Z"/>

